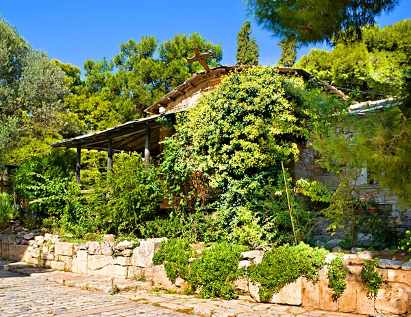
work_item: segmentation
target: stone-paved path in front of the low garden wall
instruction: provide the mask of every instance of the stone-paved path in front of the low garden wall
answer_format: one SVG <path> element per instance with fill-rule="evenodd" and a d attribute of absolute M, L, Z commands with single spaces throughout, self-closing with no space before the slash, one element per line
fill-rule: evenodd
<path fill-rule="evenodd" d="M 0 316 L 360 316 L 245 300 L 204 300 L 160 292 L 102 294 L 76 288 L 73 281 L 78 281 L 77 274 L 32 270 L 36 277 L 0 270 Z M 64 277 L 60 281 L 65 285 L 47 281 L 58 274 Z"/>

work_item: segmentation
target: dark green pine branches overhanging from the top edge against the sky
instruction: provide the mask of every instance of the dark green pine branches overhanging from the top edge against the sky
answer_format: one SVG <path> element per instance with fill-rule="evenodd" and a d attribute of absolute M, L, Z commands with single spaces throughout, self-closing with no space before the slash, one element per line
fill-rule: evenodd
<path fill-rule="evenodd" d="M 362 27 L 390 12 L 398 0 L 247 0 L 254 19 L 274 36 L 295 36 L 303 45 L 356 40 Z"/>

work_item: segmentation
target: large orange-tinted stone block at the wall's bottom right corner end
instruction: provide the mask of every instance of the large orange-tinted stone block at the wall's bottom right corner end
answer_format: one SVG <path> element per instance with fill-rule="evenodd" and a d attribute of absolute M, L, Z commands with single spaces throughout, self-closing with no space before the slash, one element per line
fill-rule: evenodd
<path fill-rule="evenodd" d="M 375 310 L 379 314 L 402 315 L 411 312 L 410 288 L 401 283 L 383 284 L 375 298 Z"/>

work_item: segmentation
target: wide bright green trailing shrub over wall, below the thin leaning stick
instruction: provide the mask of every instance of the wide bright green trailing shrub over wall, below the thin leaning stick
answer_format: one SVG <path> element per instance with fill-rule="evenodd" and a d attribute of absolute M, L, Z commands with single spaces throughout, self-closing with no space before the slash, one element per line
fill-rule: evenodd
<path fill-rule="evenodd" d="M 318 271 L 325 266 L 327 253 L 303 242 L 297 246 L 285 244 L 264 253 L 262 262 L 249 268 L 251 281 L 260 283 L 261 301 L 270 301 L 273 294 L 303 275 L 318 280 Z"/>

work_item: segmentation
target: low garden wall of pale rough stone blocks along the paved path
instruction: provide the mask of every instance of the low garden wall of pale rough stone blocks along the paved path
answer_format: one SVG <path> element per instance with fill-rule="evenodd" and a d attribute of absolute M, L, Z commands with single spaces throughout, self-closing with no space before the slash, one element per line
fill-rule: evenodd
<path fill-rule="evenodd" d="M 74 244 L 63 242 L 58 236 L 49 233 L 40 235 L 23 231 L 15 235 L 3 235 L 0 240 L 0 257 L 9 260 L 78 274 L 138 279 L 164 290 L 183 292 L 187 285 L 181 278 L 172 283 L 166 275 L 164 264 L 153 264 L 153 255 L 166 238 L 116 243 L 114 235 L 105 235 L 101 243 Z M 197 255 L 201 256 L 200 250 Z M 264 252 L 258 250 L 242 253 L 243 259 L 238 267 L 260 263 L 263 255 Z M 334 257 L 336 255 L 330 253 L 327 261 Z M 271 303 L 359 314 L 410 314 L 411 262 L 380 260 L 378 270 L 386 283 L 382 284 L 375 298 L 369 298 L 361 278 L 362 263 L 367 257 L 370 257 L 369 251 L 344 255 L 347 289 L 338 301 L 333 301 L 325 267 L 320 270 L 319 281 L 314 283 L 299 277 L 274 294 Z M 240 295 L 260 301 L 258 285 L 248 279 L 238 279 L 234 286 Z"/>

